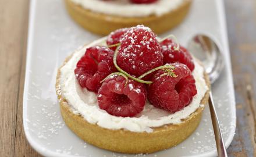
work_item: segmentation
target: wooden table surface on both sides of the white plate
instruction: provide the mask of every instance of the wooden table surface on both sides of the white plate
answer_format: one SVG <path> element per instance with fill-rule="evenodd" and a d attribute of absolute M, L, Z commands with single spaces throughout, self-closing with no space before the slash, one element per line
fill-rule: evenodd
<path fill-rule="evenodd" d="M 256 1 L 225 0 L 225 8 L 237 108 L 228 154 L 256 156 Z M 40 156 L 22 124 L 28 15 L 29 0 L 0 0 L 0 156 Z"/>

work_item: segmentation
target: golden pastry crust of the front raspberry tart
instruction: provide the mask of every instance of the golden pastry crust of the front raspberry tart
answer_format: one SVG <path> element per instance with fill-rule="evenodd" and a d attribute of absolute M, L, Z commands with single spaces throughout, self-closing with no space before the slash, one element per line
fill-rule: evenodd
<path fill-rule="evenodd" d="M 66 58 L 62 66 L 71 58 Z M 199 62 L 199 61 L 198 61 Z M 61 67 L 62 67 L 61 66 Z M 180 124 L 167 124 L 161 127 L 152 128 L 152 133 L 137 133 L 129 130 L 111 130 L 88 123 L 82 116 L 75 115 L 72 108 L 61 95 L 60 76 L 61 67 L 56 77 L 56 94 L 58 95 L 61 115 L 66 125 L 81 139 L 96 147 L 108 149 L 109 151 L 122 152 L 126 154 L 152 153 L 161 151 L 186 140 L 197 128 L 201 121 L 202 112 L 208 102 L 209 91 L 201 99 L 200 106 L 194 113 L 183 120 Z M 209 77 L 204 73 L 204 79 L 210 88 Z"/>

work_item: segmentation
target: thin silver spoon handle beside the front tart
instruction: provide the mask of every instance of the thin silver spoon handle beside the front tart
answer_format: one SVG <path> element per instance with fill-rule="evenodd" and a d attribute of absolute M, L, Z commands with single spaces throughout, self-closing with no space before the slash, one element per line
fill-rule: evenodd
<path fill-rule="evenodd" d="M 219 157 L 223 157 L 223 156 L 227 156 L 227 152 L 226 152 L 226 147 L 223 141 L 223 136 L 222 136 L 222 132 L 221 132 L 221 127 L 219 126 L 219 120 L 216 114 L 216 110 L 214 107 L 214 101 L 212 98 L 212 92 L 209 92 L 209 108 L 210 108 L 210 112 L 211 112 L 211 117 L 212 117 L 212 126 L 214 127 L 214 135 L 215 135 L 215 141 L 216 141 L 216 147 L 217 147 L 217 151 L 218 151 L 218 156 Z"/>

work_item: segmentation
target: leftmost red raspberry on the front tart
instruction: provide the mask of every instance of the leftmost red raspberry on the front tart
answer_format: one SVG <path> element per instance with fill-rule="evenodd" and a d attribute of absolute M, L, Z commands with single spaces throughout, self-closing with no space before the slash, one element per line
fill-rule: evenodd
<path fill-rule="evenodd" d="M 74 73 L 82 88 L 98 92 L 100 81 L 112 72 L 116 72 L 113 65 L 113 51 L 106 47 L 90 47 L 77 62 Z"/>

